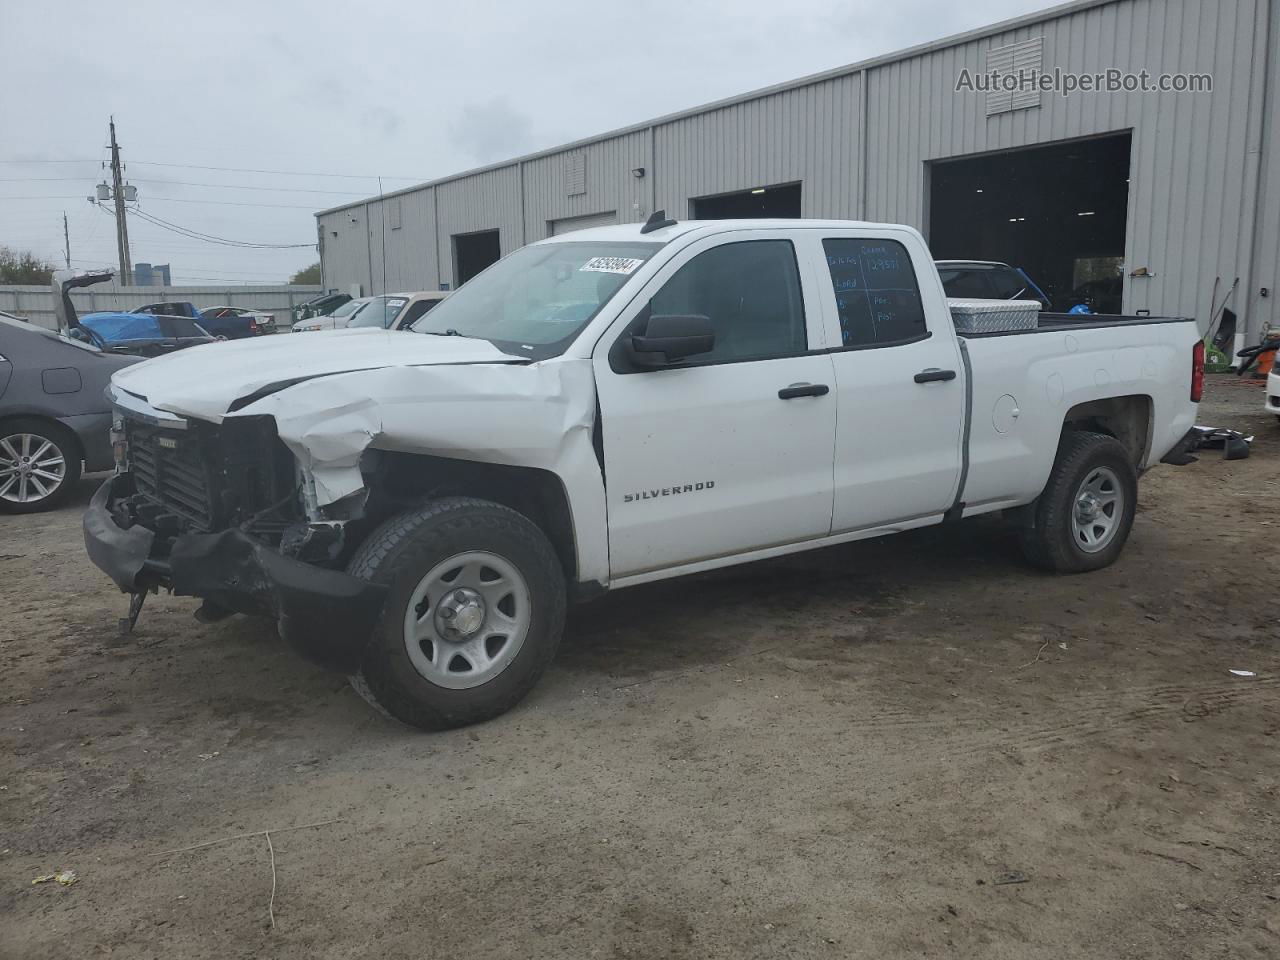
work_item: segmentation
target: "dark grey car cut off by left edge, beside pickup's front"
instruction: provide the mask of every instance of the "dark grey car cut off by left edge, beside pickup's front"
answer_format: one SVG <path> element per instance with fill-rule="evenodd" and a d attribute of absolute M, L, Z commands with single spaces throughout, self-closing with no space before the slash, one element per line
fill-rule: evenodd
<path fill-rule="evenodd" d="M 111 374 L 136 362 L 0 316 L 0 511 L 56 507 L 82 470 L 111 466 L 104 390 Z"/>

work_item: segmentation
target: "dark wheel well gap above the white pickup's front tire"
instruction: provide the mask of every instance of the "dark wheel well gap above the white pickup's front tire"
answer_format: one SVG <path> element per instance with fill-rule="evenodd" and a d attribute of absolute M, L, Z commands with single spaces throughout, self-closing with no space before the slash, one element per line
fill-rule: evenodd
<path fill-rule="evenodd" d="M 436 497 L 477 497 L 529 517 L 550 540 L 568 582 L 577 579 L 573 516 L 564 484 L 549 470 L 413 453 L 378 453 L 371 504 L 403 509 Z M 367 470 L 367 467 L 365 467 Z"/>

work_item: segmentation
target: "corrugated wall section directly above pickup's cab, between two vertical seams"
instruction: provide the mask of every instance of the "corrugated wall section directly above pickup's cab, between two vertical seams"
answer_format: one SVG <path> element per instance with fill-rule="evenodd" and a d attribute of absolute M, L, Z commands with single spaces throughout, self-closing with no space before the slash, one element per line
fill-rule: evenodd
<path fill-rule="evenodd" d="M 805 216 L 856 218 L 861 76 L 850 74 L 677 119 L 654 129 L 655 206 L 800 182 Z"/>

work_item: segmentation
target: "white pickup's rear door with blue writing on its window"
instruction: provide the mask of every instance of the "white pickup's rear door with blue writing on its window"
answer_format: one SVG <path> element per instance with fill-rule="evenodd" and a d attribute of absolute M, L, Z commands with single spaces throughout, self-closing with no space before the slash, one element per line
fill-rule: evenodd
<path fill-rule="evenodd" d="M 965 375 L 933 261 L 908 233 L 813 234 L 840 344 L 832 532 L 937 517 L 959 485 Z"/>

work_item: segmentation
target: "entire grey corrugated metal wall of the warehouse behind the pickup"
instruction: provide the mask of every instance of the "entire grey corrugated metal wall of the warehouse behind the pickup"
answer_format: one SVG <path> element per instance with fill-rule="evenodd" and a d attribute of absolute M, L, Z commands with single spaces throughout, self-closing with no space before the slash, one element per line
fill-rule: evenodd
<path fill-rule="evenodd" d="M 385 255 L 378 200 L 326 211 L 325 284 L 380 289 L 385 261 L 388 285 L 430 287 L 452 282 L 454 233 L 497 228 L 507 253 L 549 236 L 554 220 L 616 210 L 636 221 L 654 209 L 685 218 L 694 197 L 791 182 L 805 216 L 924 229 L 932 161 L 1132 129 L 1126 260 L 1153 276 L 1126 279 L 1125 308 L 1207 321 L 1215 278 L 1225 289 L 1240 276 L 1231 307 L 1248 301 L 1256 332 L 1280 323 L 1275 301 L 1257 297 L 1280 283 L 1277 3 L 1079 3 L 426 184 L 399 195 L 402 228 L 387 233 Z M 961 68 L 982 73 L 989 50 L 1037 41 L 1048 70 L 1210 73 L 1213 91 L 1046 92 L 1038 106 L 992 116 L 983 92 L 955 91 Z M 582 156 L 585 183 L 571 155 Z"/>

